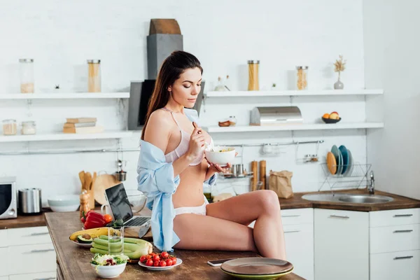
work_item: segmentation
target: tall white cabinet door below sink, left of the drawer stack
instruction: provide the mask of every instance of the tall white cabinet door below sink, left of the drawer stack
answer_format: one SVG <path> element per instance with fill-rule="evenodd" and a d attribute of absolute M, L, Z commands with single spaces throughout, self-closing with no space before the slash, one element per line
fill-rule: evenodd
<path fill-rule="evenodd" d="M 369 214 L 314 209 L 316 280 L 369 279 Z"/>

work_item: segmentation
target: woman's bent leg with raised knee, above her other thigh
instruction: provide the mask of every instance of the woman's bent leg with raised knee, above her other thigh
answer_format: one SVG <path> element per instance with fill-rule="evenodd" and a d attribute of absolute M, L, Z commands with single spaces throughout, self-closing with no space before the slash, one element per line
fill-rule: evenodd
<path fill-rule="evenodd" d="M 242 225 L 256 220 L 253 238 L 260 254 L 286 260 L 279 197 L 272 190 L 257 190 L 208 204 L 207 216 Z"/>

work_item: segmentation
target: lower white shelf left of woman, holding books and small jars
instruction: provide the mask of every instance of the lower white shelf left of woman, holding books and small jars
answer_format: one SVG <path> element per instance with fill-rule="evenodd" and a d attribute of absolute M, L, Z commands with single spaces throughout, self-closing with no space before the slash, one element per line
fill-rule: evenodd
<path fill-rule="evenodd" d="M 89 134 L 34 134 L 34 135 L 1 135 L 0 142 L 27 142 L 27 141 L 56 141 L 56 140 L 87 140 L 87 139 L 119 139 L 131 137 L 131 131 L 109 131 Z"/>

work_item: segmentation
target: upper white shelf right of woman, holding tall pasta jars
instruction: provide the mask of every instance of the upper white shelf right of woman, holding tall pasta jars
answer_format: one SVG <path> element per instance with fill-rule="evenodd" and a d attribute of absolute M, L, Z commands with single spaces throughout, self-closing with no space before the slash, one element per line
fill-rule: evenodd
<path fill-rule="evenodd" d="M 267 91 L 209 91 L 206 97 L 281 97 L 281 96 L 319 96 L 319 95 L 379 95 L 384 90 L 267 90 Z"/>

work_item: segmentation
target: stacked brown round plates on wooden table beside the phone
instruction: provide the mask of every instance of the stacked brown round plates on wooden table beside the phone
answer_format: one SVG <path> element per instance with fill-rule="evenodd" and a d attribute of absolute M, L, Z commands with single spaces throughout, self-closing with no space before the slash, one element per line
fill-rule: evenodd
<path fill-rule="evenodd" d="M 237 258 L 223 262 L 221 269 L 239 279 L 277 279 L 293 271 L 293 265 L 276 258 Z"/>

